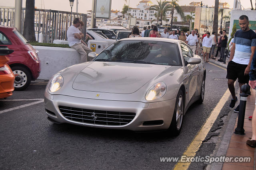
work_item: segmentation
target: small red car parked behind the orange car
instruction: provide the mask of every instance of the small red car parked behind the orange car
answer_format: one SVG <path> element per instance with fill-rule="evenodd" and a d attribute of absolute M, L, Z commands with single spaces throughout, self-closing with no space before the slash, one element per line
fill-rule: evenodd
<path fill-rule="evenodd" d="M 14 27 L 0 25 L 0 46 L 7 46 L 14 52 L 7 57 L 15 75 L 15 90 L 24 90 L 31 80 L 38 78 L 41 66 L 37 51 Z"/>

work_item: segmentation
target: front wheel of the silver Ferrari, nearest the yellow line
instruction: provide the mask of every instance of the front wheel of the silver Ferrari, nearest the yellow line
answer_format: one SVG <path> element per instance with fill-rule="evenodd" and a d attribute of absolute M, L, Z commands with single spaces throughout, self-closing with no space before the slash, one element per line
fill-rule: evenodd
<path fill-rule="evenodd" d="M 183 123 L 183 115 L 184 115 L 184 94 L 182 90 L 179 90 L 176 103 L 174 107 L 174 113 L 172 116 L 172 122 L 169 127 L 169 131 L 177 136 L 180 134 L 182 123 Z"/>

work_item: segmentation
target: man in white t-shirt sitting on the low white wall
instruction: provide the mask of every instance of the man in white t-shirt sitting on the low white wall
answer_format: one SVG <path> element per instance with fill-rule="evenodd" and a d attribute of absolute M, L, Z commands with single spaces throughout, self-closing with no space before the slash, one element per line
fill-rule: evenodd
<path fill-rule="evenodd" d="M 91 53 L 92 50 L 86 45 L 84 45 L 83 43 L 81 43 L 81 39 L 84 38 L 84 34 L 81 33 L 78 29 L 80 24 L 81 24 L 81 20 L 79 18 L 75 18 L 73 21 L 73 25 L 71 25 L 68 28 L 67 37 L 68 37 L 68 45 L 71 48 L 76 49 L 78 53 L 80 53 L 81 63 L 82 63 L 82 62 L 87 62 L 88 60 L 90 61 L 90 59 L 88 59 L 88 54 Z"/>

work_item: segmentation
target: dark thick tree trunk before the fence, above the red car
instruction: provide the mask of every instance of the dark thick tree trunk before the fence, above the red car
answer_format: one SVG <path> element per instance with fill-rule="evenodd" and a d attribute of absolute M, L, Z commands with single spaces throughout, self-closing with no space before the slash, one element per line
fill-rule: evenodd
<path fill-rule="evenodd" d="M 23 36 L 28 41 L 36 41 L 35 35 L 35 0 L 26 0 Z"/>

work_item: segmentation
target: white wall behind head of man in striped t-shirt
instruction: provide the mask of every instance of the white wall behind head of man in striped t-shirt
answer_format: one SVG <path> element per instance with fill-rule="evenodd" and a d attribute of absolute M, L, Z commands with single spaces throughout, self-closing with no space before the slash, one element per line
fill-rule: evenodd
<path fill-rule="evenodd" d="M 238 20 L 239 17 L 242 16 L 242 15 L 248 16 L 249 21 L 256 21 L 256 11 L 255 10 L 232 10 L 231 11 L 231 17 L 230 17 L 230 27 L 229 27 L 229 37 L 228 37 L 228 39 L 230 39 L 230 35 L 232 33 L 234 20 Z"/>

